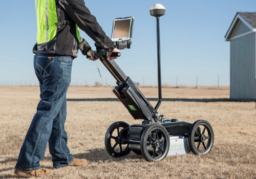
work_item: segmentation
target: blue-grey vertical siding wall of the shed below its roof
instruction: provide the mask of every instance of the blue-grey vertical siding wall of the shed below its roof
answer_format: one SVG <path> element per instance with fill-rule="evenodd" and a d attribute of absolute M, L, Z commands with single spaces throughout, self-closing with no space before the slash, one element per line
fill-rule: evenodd
<path fill-rule="evenodd" d="M 255 99 L 255 32 L 230 40 L 230 98 Z"/>

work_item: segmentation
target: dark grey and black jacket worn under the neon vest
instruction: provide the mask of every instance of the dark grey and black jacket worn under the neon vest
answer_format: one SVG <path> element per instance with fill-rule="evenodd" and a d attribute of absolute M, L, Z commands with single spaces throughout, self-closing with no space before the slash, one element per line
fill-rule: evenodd
<path fill-rule="evenodd" d="M 68 55 L 76 58 L 80 43 L 80 50 L 86 55 L 91 48 L 86 40 L 78 40 L 76 25 L 105 51 L 114 50 L 113 42 L 106 36 L 83 0 L 55 0 L 55 3 L 58 17 L 56 36 L 48 42 L 36 43 L 33 53 Z"/>

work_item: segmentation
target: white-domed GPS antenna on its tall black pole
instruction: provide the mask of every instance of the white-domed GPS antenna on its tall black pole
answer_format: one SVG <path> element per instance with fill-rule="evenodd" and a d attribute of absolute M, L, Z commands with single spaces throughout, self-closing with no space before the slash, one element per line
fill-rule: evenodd
<path fill-rule="evenodd" d="M 162 102 L 162 82 L 161 82 L 161 56 L 160 56 L 160 28 L 159 18 L 165 14 L 165 8 L 161 4 L 155 4 L 150 8 L 150 15 L 157 19 L 157 67 L 158 67 L 158 102 L 155 110 L 158 109 Z"/>

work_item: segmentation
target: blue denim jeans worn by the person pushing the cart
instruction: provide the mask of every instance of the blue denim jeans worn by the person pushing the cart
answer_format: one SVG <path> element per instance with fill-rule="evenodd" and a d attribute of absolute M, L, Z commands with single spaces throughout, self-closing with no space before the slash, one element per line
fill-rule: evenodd
<path fill-rule="evenodd" d="M 34 69 L 40 85 L 40 102 L 30 124 L 15 168 L 36 170 L 44 158 L 46 146 L 53 167 L 65 167 L 74 157 L 67 146 L 66 93 L 71 81 L 72 57 L 35 54 Z"/>

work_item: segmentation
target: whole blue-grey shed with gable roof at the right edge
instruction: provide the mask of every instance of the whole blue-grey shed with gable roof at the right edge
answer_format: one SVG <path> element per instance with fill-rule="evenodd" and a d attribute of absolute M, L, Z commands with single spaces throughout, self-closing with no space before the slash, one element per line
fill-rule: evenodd
<path fill-rule="evenodd" d="M 256 98 L 256 12 L 238 12 L 225 40 L 230 41 L 230 98 Z"/>

